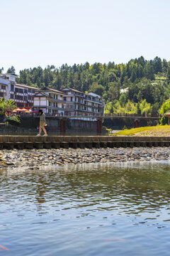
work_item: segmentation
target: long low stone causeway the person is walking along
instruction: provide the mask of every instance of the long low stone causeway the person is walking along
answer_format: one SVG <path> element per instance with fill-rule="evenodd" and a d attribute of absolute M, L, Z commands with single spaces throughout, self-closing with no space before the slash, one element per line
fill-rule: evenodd
<path fill-rule="evenodd" d="M 91 149 L 133 146 L 170 146 L 170 137 L 0 136 L 0 149 Z"/>

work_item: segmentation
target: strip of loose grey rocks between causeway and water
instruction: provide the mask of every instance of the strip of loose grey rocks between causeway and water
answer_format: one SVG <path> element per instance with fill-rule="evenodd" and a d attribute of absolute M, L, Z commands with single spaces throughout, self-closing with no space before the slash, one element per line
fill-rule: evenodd
<path fill-rule="evenodd" d="M 170 161 L 170 147 L 1 150 L 0 168 L 40 169 L 42 166 L 155 160 Z"/>

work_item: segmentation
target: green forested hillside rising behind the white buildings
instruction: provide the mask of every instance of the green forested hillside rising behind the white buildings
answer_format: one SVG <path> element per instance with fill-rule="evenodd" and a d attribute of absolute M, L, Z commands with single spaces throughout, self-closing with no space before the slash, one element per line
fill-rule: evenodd
<path fill-rule="evenodd" d="M 1 70 L 1 72 L 4 72 Z M 8 73 L 15 72 L 13 67 Z M 89 63 L 69 66 L 24 69 L 18 82 L 35 87 L 72 87 L 96 92 L 106 101 L 106 112 L 158 114 L 170 96 L 170 62 L 161 58 L 140 57 L 127 64 Z M 125 90 L 123 90 L 125 89 Z"/>

